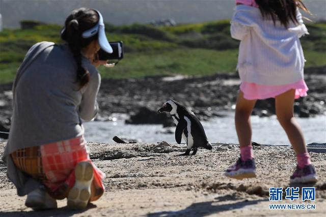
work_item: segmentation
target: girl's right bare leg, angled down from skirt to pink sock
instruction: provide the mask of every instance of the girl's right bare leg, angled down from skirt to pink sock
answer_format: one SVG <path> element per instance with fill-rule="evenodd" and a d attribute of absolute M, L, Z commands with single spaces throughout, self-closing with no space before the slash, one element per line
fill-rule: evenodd
<path fill-rule="evenodd" d="M 276 115 L 295 153 L 303 154 L 307 152 L 307 147 L 303 133 L 293 114 L 294 94 L 295 90 L 291 89 L 275 97 Z"/>

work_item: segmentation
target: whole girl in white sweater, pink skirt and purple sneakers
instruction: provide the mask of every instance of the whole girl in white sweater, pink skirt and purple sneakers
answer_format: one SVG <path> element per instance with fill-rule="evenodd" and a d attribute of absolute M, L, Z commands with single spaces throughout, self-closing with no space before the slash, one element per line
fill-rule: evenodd
<path fill-rule="evenodd" d="M 256 100 L 275 98 L 276 115 L 297 158 L 290 182 L 316 182 L 302 131 L 293 116 L 294 99 L 307 96 L 308 90 L 299 40 L 308 31 L 298 8 L 310 12 L 301 0 L 237 0 L 236 4 L 231 36 L 241 41 L 237 66 L 241 85 L 235 110 L 240 158 L 225 175 L 256 177 L 250 115 Z"/>

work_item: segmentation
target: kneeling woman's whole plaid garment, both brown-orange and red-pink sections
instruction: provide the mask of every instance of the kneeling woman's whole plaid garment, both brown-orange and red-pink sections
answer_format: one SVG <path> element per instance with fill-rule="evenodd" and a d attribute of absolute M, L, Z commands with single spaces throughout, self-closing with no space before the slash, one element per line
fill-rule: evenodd
<path fill-rule="evenodd" d="M 51 195 L 60 194 L 61 189 L 72 188 L 75 183 L 76 164 L 89 161 L 89 151 L 83 136 L 31 148 L 19 149 L 11 154 L 18 169 L 39 179 Z M 92 162 L 91 162 L 92 163 Z M 93 163 L 94 179 L 91 201 L 104 192 L 104 173 Z M 58 196 L 60 198 L 60 196 Z"/>

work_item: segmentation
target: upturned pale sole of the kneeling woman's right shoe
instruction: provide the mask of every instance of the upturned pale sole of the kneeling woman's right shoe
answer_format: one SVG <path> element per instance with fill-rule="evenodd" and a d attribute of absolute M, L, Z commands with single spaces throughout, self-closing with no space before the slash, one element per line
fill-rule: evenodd
<path fill-rule="evenodd" d="M 75 168 L 75 184 L 69 191 L 67 206 L 71 209 L 85 209 L 91 198 L 93 166 L 90 162 L 79 162 Z"/>

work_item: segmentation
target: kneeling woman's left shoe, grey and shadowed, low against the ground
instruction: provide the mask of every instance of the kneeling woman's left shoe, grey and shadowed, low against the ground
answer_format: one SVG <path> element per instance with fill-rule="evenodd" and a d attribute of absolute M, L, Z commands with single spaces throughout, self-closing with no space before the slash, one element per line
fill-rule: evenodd
<path fill-rule="evenodd" d="M 25 206 L 32 209 L 56 209 L 57 200 L 50 197 L 50 195 L 43 189 L 36 189 L 27 195 Z"/>

